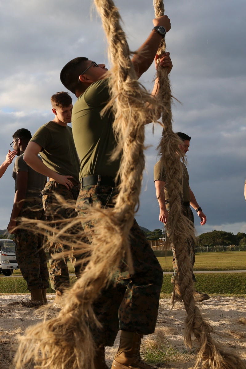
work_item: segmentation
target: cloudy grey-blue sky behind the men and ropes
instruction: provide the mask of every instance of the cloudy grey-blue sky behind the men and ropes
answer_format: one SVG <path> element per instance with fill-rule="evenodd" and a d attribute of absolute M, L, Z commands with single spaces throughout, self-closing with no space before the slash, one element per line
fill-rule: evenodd
<path fill-rule="evenodd" d="M 32 134 L 53 119 L 50 97 L 64 90 L 59 74 L 76 56 L 107 61 L 101 20 L 90 0 L 0 0 L 0 161 L 19 128 Z M 152 0 L 115 0 L 132 50 L 152 30 Z M 207 215 L 198 234 L 246 232 L 246 32 L 245 0 L 165 0 L 166 35 L 173 70 L 173 129 L 191 136 L 187 154 L 190 187 Z M 152 65 L 141 79 L 151 90 Z M 74 102 L 76 101 L 73 96 Z M 146 171 L 137 214 L 139 225 L 161 228 L 153 165 L 161 129 L 146 128 Z M 0 229 L 7 228 L 14 198 L 12 165 L 0 180 Z"/>

